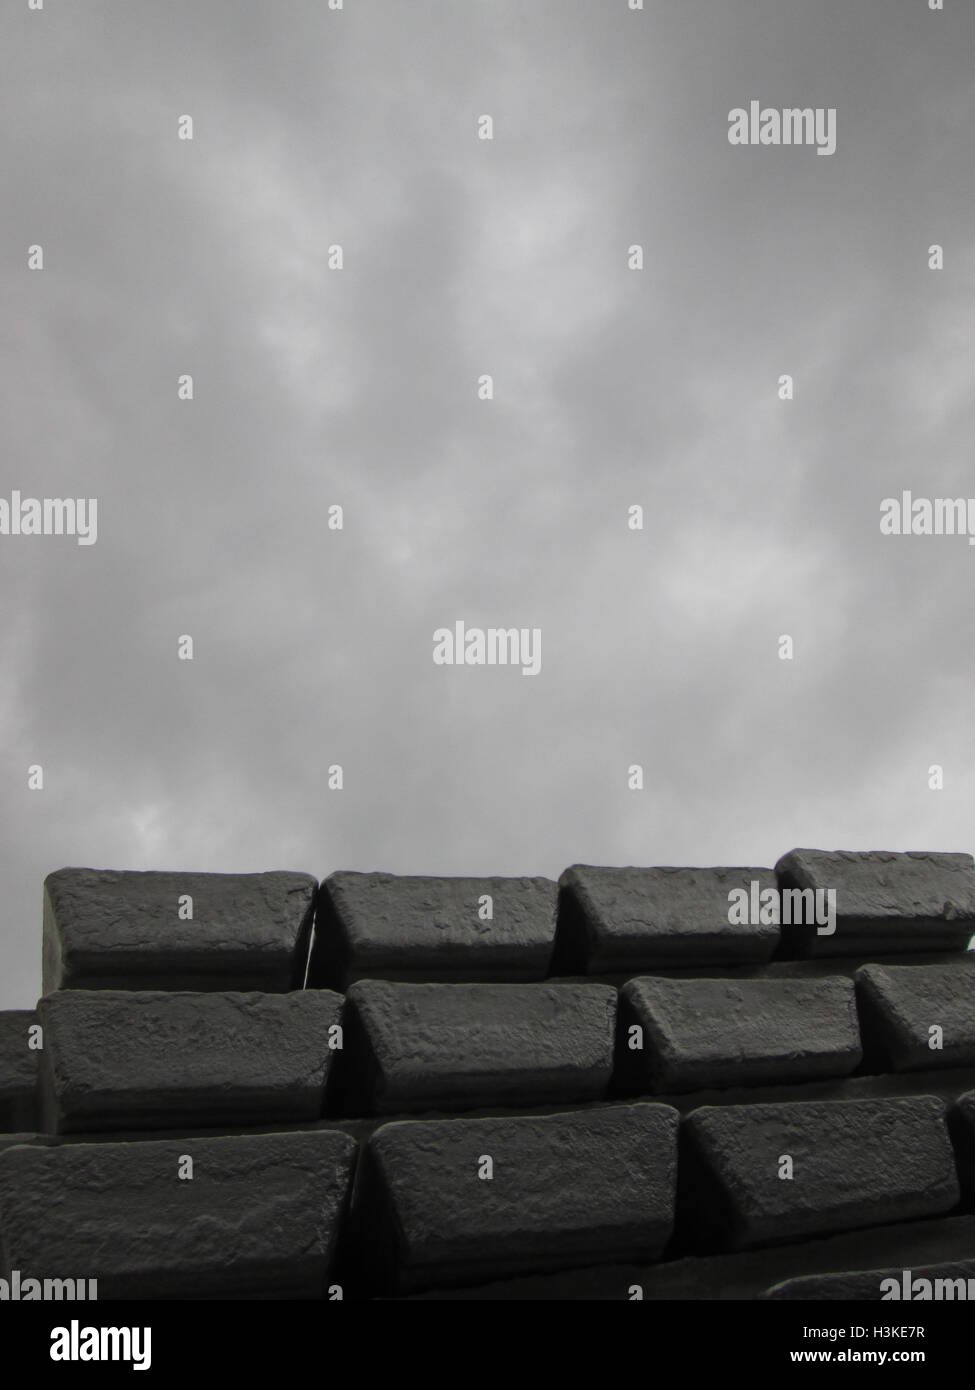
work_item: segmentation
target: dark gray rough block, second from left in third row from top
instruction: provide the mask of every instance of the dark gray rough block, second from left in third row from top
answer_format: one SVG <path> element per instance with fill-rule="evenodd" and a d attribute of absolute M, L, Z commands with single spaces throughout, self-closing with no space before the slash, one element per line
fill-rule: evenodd
<path fill-rule="evenodd" d="M 374 1287 L 410 1291 L 659 1258 L 673 1226 L 677 1112 L 399 1120 L 363 1151 Z M 492 1176 L 483 1177 L 487 1161 Z"/>

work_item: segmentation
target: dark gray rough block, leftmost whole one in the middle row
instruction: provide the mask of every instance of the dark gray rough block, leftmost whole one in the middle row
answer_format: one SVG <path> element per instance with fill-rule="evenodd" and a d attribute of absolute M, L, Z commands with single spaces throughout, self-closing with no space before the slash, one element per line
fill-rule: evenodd
<path fill-rule="evenodd" d="M 47 995 L 38 1004 L 45 1126 L 65 1134 L 317 1119 L 342 1002 L 330 990 Z"/>

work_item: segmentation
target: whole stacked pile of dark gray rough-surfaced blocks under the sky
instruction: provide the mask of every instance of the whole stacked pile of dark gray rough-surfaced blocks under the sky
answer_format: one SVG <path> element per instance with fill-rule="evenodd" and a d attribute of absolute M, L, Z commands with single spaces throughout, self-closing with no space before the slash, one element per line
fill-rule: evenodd
<path fill-rule="evenodd" d="M 0 1015 L 0 1273 L 334 1301 L 968 1277 L 974 933 L 956 853 L 60 870 L 43 997 Z"/>

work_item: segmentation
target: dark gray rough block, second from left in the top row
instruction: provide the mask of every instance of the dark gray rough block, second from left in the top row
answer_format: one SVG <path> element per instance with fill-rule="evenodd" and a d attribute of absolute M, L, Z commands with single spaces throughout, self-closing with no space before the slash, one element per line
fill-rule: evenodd
<path fill-rule="evenodd" d="M 491 898 L 491 917 L 480 916 Z M 321 885 L 312 951 L 316 984 L 362 977 L 542 980 L 555 940 L 551 878 L 424 878 L 331 874 Z"/>

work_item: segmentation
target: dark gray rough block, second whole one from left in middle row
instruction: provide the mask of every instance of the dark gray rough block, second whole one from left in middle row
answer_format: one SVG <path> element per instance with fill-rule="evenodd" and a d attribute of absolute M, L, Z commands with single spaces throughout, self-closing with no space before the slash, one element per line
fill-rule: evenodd
<path fill-rule="evenodd" d="M 608 986 L 359 980 L 348 1002 L 342 1113 L 556 1105 L 609 1086 Z"/>

